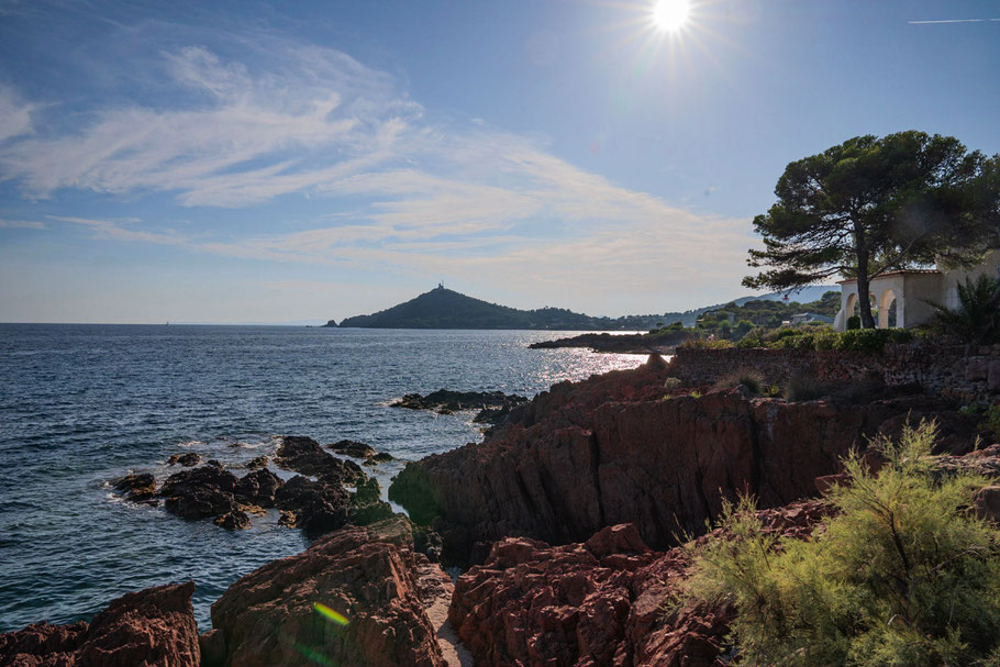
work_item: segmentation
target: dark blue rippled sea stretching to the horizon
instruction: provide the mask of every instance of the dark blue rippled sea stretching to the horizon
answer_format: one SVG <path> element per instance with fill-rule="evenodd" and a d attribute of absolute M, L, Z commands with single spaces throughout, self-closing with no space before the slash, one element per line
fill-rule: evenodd
<path fill-rule="evenodd" d="M 247 531 L 119 501 L 198 452 L 234 467 L 273 436 L 370 443 L 404 460 L 479 440 L 471 413 L 388 408 L 403 393 L 533 396 L 643 357 L 533 351 L 554 332 L 0 324 L 0 632 L 67 623 L 147 586 L 193 579 L 201 631 L 235 579 L 307 546 L 271 513 Z M 377 473 L 384 490 L 402 463 Z M 242 471 L 234 469 L 241 475 Z"/>

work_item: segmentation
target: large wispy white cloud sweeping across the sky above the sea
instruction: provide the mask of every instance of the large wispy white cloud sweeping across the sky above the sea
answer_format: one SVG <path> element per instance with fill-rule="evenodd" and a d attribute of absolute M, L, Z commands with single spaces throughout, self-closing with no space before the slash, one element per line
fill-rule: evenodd
<path fill-rule="evenodd" d="M 252 209 L 310 198 L 311 215 L 281 232 L 212 226 L 204 215 L 184 233 L 47 218 L 115 242 L 447 275 L 546 302 L 563 290 L 581 310 L 593 292 L 702 299 L 738 284 L 753 244 L 746 220 L 670 205 L 486 123 L 434 123 L 393 77 L 341 52 L 280 40 L 260 48 L 270 57 L 256 66 L 201 46 L 164 52 L 171 105 L 111 105 L 70 132 L 33 133 L 31 105 L 9 96 L 26 115 L 10 123 L 0 171 L 34 199 L 164 192 L 181 207 Z"/>

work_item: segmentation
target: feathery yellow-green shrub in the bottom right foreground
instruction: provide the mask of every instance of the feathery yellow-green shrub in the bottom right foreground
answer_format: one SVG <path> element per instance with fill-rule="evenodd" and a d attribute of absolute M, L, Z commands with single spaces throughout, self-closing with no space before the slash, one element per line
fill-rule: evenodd
<path fill-rule="evenodd" d="M 741 665 L 936 667 L 1000 664 L 1000 531 L 969 507 L 986 479 L 935 474 L 934 424 L 857 453 L 849 485 L 808 540 L 766 531 L 753 502 L 727 505 L 721 536 L 688 548 L 688 596 L 732 601 Z"/>

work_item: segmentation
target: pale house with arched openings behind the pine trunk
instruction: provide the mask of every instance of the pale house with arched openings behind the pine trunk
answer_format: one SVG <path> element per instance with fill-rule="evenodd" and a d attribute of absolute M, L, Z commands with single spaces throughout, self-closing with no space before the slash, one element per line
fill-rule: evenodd
<path fill-rule="evenodd" d="M 909 327 L 923 324 L 934 315 L 931 303 L 958 305 L 958 285 L 979 276 L 1000 278 L 1000 251 L 991 251 L 974 269 L 949 269 L 938 263 L 934 269 L 891 271 L 868 284 L 871 308 L 878 311 L 876 326 Z M 856 314 L 857 280 L 841 280 L 841 310 L 833 321 L 835 331 L 847 329 L 847 318 Z"/>

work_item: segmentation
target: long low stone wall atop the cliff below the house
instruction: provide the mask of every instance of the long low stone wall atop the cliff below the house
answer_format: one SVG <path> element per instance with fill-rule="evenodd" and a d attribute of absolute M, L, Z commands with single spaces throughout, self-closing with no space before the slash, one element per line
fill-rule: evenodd
<path fill-rule="evenodd" d="M 969 347 L 916 341 L 887 345 L 881 354 L 795 349 L 678 348 L 670 376 L 685 385 L 712 385 L 743 368 L 784 385 L 797 375 L 820 380 L 875 380 L 890 387 L 920 386 L 964 402 L 1000 400 L 1000 345 Z"/>

